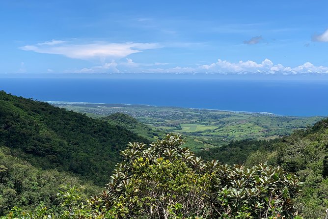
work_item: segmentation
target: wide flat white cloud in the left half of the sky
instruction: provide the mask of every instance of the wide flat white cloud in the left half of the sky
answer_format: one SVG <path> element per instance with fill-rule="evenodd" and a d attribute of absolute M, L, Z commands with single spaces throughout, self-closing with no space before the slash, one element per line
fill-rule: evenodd
<path fill-rule="evenodd" d="M 122 58 L 144 50 L 156 49 L 161 46 L 157 43 L 109 43 L 93 42 L 88 44 L 74 44 L 61 40 L 26 45 L 20 49 L 43 54 L 65 55 L 77 59 Z"/>

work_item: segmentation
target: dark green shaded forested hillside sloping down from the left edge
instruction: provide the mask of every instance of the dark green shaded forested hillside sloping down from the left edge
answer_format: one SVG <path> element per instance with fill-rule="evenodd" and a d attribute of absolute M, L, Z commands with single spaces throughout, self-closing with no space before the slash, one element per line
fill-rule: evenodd
<path fill-rule="evenodd" d="M 0 146 L 33 166 L 103 186 L 129 141 L 148 142 L 121 126 L 0 92 Z"/>

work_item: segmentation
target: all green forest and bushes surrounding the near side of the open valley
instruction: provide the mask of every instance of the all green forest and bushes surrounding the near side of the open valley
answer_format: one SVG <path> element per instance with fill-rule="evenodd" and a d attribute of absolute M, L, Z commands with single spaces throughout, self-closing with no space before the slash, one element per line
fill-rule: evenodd
<path fill-rule="evenodd" d="M 1 219 L 327 217 L 328 119 L 195 150 L 123 113 L 93 117 L 0 92 Z"/>

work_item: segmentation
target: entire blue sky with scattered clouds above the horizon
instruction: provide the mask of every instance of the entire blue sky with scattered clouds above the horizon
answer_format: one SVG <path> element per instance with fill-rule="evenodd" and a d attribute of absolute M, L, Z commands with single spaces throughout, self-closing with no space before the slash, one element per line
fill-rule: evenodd
<path fill-rule="evenodd" d="M 0 75 L 328 75 L 327 0 L 1 0 Z"/>

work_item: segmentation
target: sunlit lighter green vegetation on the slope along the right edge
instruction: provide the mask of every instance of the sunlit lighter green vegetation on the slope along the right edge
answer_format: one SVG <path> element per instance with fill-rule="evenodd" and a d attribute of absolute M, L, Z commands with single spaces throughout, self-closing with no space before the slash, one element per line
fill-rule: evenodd
<path fill-rule="evenodd" d="M 303 192 L 298 197 L 298 209 L 306 219 L 324 218 L 328 209 L 328 119 L 312 128 L 284 137 L 275 145 L 275 150 L 257 151 L 247 163 L 268 161 L 281 165 L 297 174 Z"/>

